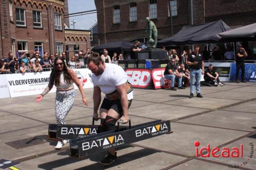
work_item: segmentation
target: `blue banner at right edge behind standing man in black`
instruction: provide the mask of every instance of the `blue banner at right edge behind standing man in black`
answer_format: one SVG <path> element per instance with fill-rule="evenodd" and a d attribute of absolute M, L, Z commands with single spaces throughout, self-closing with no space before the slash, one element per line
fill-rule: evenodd
<path fill-rule="evenodd" d="M 231 64 L 230 81 L 236 81 L 236 63 Z M 239 70 L 239 80 L 241 80 L 241 69 Z M 256 64 L 245 64 L 244 80 L 248 82 L 256 82 Z"/>

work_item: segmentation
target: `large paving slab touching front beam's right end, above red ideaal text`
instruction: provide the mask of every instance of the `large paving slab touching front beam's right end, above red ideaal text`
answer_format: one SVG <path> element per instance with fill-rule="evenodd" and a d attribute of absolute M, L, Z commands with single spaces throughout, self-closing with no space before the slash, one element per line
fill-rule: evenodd
<path fill-rule="evenodd" d="M 139 141 L 136 144 L 187 156 L 195 156 L 195 141 L 199 141 L 201 143 L 200 146 L 206 146 L 207 143 L 210 143 L 212 147 L 216 147 L 234 138 L 248 134 L 247 132 L 220 130 L 178 123 L 171 123 L 170 126 L 173 133 Z"/>

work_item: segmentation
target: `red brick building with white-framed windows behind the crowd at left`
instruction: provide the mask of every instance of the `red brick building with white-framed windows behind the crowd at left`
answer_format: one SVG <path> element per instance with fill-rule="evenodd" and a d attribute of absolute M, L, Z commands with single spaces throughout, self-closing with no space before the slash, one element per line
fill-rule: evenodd
<path fill-rule="evenodd" d="M 29 52 L 35 50 L 40 56 L 67 50 L 66 43 L 82 50 L 90 47 L 87 30 L 74 31 L 69 27 L 68 1 L 65 0 L 1 0 L 0 1 L 0 58 L 7 58 L 9 52 Z M 67 33 L 67 35 L 66 35 Z M 73 34 L 73 35 L 72 35 Z M 67 42 L 65 42 L 67 40 Z M 74 49 L 73 49 L 74 50 Z"/>

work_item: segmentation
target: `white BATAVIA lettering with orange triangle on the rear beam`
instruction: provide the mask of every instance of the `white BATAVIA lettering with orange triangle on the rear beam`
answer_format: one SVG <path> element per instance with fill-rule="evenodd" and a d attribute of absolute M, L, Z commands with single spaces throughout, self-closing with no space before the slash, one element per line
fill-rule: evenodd
<path fill-rule="evenodd" d="M 97 134 L 96 128 L 67 128 L 61 127 L 61 135 L 78 135 L 78 137 L 84 137 L 87 135 Z"/>

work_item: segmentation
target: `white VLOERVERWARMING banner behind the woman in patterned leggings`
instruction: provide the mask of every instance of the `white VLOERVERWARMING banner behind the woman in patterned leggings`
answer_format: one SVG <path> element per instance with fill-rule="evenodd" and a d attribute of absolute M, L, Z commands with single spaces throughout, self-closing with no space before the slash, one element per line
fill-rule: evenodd
<path fill-rule="evenodd" d="M 93 87 L 91 70 L 89 70 L 88 68 L 83 68 L 74 69 L 74 71 L 76 72 L 80 83 L 83 85 L 83 88 Z M 40 94 L 47 87 L 50 79 L 50 74 L 51 71 L 26 72 L 25 74 L 6 75 L 11 98 L 17 96 Z M 78 89 L 75 83 L 74 87 L 75 89 Z M 56 87 L 53 86 L 50 92 L 55 91 Z"/>

